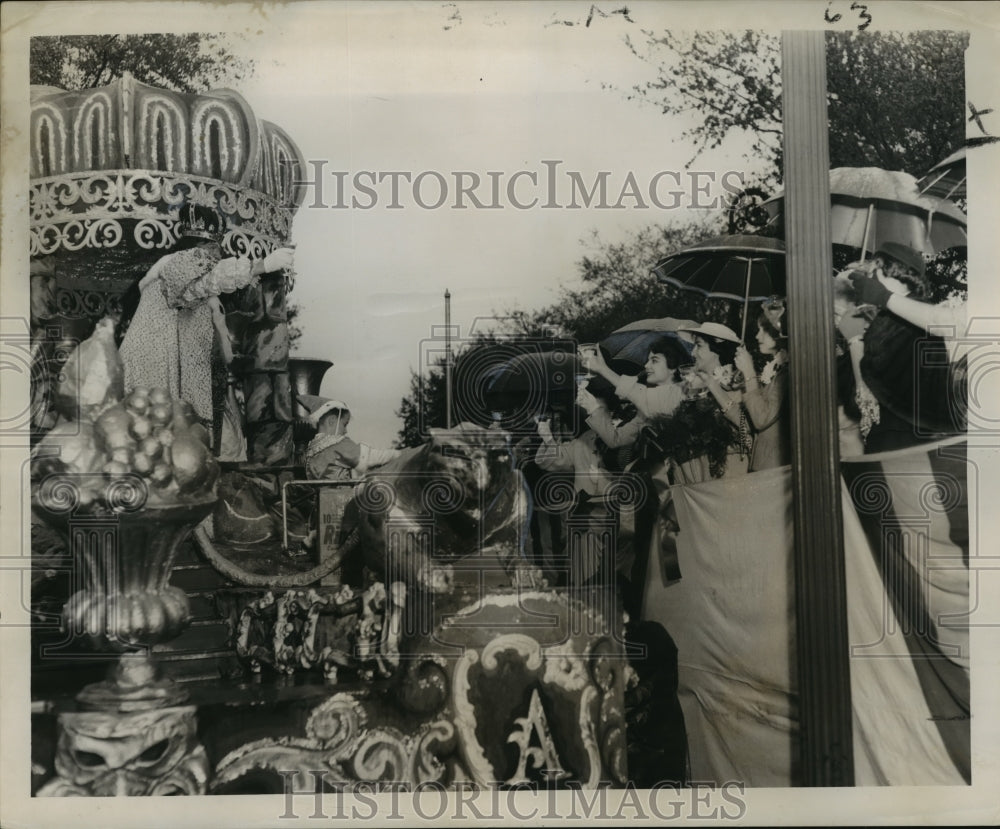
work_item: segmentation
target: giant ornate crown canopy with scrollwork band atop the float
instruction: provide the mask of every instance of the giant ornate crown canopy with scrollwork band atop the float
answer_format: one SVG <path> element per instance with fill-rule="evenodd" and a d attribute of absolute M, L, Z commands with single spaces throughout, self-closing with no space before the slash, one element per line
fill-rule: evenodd
<path fill-rule="evenodd" d="M 305 162 L 229 89 L 182 93 L 130 75 L 104 87 L 32 87 L 31 255 L 132 245 L 169 249 L 178 207 L 210 205 L 228 255 L 285 244 Z"/>

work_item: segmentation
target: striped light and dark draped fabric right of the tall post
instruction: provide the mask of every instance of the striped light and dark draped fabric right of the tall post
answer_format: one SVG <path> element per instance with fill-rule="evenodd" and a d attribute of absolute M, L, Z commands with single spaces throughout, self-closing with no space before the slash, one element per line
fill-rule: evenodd
<path fill-rule="evenodd" d="M 841 471 L 858 782 L 969 783 L 965 440 Z"/>

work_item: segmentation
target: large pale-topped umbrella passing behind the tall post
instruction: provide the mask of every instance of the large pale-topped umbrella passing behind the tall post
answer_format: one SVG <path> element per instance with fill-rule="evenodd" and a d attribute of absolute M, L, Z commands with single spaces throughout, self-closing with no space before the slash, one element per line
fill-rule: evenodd
<path fill-rule="evenodd" d="M 778 221 L 784 194 L 764 202 Z M 885 242 L 899 242 L 933 255 L 967 245 L 967 218 L 947 199 L 921 195 L 909 173 L 880 167 L 830 171 L 830 235 L 835 245 L 861 248 L 861 258 Z"/>

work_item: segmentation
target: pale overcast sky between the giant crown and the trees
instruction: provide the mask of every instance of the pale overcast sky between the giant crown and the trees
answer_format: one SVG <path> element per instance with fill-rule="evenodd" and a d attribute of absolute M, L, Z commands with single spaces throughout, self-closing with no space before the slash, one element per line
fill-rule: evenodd
<path fill-rule="evenodd" d="M 310 191 L 294 224 L 294 297 L 305 331 L 297 355 L 334 361 L 322 392 L 352 405 L 357 438 L 395 437 L 393 412 L 411 367 L 420 366 L 422 340 L 444 322 L 446 288 L 452 324 L 465 336 L 477 317 L 551 303 L 558 286 L 575 279 L 592 230 L 612 242 L 687 218 L 688 197 L 673 193 L 692 189 L 684 165 L 694 151 L 680 139 L 689 122 L 625 99 L 652 76 L 624 37 L 641 38 L 640 24 L 665 28 L 669 10 L 633 11 L 634 23 L 620 14 L 595 17 L 586 27 L 588 9 L 432 3 L 390 14 L 377 6 L 346 13 L 304 4 L 248 36 L 258 71 L 240 91 L 259 117 L 289 132 L 306 159 L 323 165 L 313 168 L 325 174 L 322 193 Z M 734 140 L 692 167 L 716 178 L 698 179 L 701 203 L 725 195 L 723 173 L 761 168 L 743 153 Z M 400 207 L 390 208 L 392 178 L 384 177 L 373 197 L 352 187 L 362 171 L 427 175 L 416 192 L 397 177 Z M 619 209 L 585 209 L 582 197 L 569 208 L 569 174 L 592 187 L 602 171 L 608 205 L 618 202 L 631 173 L 648 207 L 628 196 Z M 654 179 L 661 171 L 679 173 L 681 186 L 670 175 Z M 342 191 L 334 172 L 347 174 Z M 472 193 L 482 208 L 471 197 L 462 197 L 465 209 L 453 206 L 456 172 L 479 177 Z M 437 209 L 422 207 L 440 201 L 436 173 L 447 199 Z M 651 182 L 665 208 L 651 200 Z M 372 186 L 369 177 L 361 183 Z M 352 197 L 376 201 L 370 209 L 315 206 L 336 204 L 338 196 L 347 205 Z M 536 198 L 534 207 L 516 206 Z"/>

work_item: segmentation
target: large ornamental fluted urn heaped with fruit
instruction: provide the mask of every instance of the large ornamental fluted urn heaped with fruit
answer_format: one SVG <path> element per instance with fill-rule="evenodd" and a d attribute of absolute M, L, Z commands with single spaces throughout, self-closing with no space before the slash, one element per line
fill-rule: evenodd
<path fill-rule="evenodd" d="M 117 353 L 84 346 L 81 419 L 52 429 L 31 469 L 34 515 L 62 535 L 73 559 L 64 633 L 120 654 L 109 679 L 77 700 L 105 711 L 176 705 L 186 693 L 158 676 L 149 650 L 189 620 L 187 596 L 169 581 L 181 544 L 218 499 L 219 465 L 189 403 L 162 388 L 123 395 Z"/>

